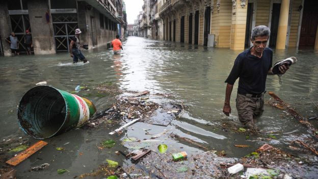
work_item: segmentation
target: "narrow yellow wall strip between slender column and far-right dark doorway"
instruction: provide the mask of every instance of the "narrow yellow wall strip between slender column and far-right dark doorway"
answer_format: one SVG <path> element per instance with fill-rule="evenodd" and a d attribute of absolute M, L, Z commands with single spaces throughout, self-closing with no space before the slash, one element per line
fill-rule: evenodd
<path fill-rule="evenodd" d="M 298 25 L 300 19 L 300 12 L 298 11 L 298 7 L 302 4 L 302 0 L 294 0 L 292 2 L 292 17 L 290 19 L 290 31 L 289 31 L 289 47 L 297 46 L 297 37 L 298 37 Z"/>

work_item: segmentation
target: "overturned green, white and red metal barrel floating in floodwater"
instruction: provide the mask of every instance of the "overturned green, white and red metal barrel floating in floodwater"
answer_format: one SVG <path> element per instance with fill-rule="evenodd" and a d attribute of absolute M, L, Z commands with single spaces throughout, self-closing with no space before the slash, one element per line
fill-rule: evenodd
<path fill-rule="evenodd" d="M 96 112 L 94 104 L 50 86 L 27 91 L 18 106 L 19 125 L 36 139 L 50 138 L 81 127 Z"/>

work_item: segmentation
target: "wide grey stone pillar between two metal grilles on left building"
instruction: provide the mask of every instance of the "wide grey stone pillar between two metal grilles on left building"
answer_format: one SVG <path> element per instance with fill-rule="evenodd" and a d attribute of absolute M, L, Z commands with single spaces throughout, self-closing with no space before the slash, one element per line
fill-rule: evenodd
<path fill-rule="evenodd" d="M 52 19 L 51 16 L 50 22 L 45 19 L 45 13 L 49 12 L 48 1 L 30 0 L 28 9 L 34 54 L 55 54 Z"/>

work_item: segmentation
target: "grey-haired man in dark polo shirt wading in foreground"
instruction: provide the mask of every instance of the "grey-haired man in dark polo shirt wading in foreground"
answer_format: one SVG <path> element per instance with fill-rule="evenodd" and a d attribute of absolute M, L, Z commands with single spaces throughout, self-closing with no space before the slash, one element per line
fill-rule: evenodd
<path fill-rule="evenodd" d="M 236 79 L 240 77 L 236 109 L 241 123 L 252 132 L 258 132 L 254 120 L 264 111 L 266 78 L 268 74 L 273 74 L 273 51 L 266 47 L 270 33 L 270 29 L 265 25 L 259 25 L 252 30 L 253 46 L 236 57 L 225 81 L 227 85 L 223 113 L 227 116 L 231 113 L 231 93 Z M 288 68 L 288 65 L 281 65 L 279 70 L 284 74 Z"/>

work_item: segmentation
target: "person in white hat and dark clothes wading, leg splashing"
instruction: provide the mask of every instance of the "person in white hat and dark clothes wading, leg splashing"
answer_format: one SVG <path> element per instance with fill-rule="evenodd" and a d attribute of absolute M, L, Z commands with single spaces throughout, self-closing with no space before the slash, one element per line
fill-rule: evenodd
<path fill-rule="evenodd" d="M 81 41 L 80 41 L 80 34 L 82 31 L 80 29 L 75 29 L 75 36 L 72 37 L 71 43 L 69 45 L 69 53 L 73 58 L 73 63 L 77 63 L 78 59 L 82 60 L 84 63 L 87 62 L 85 56 L 81 52 Z"/>

